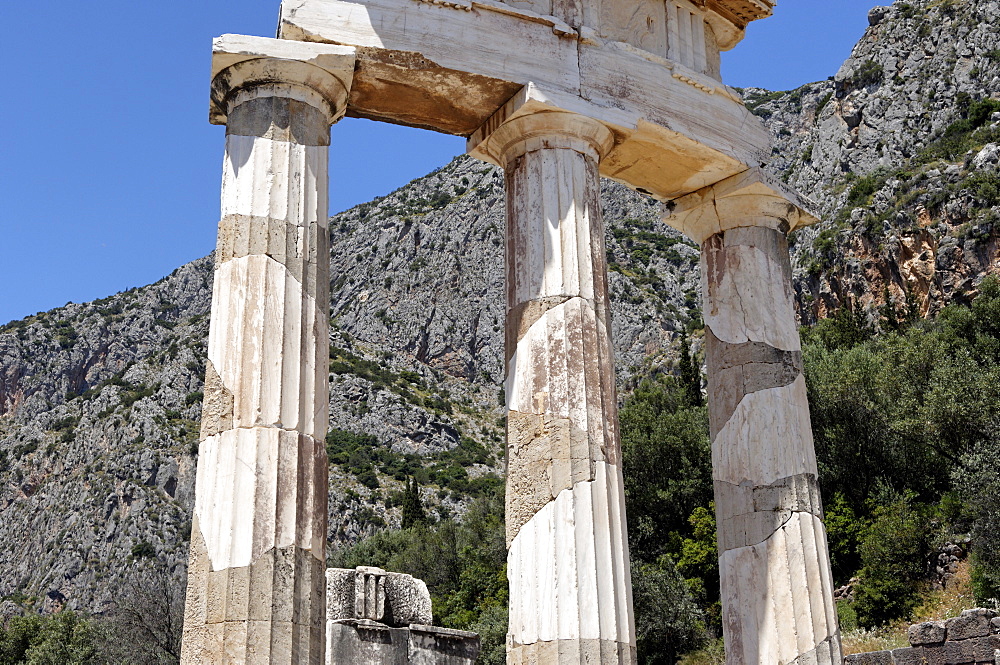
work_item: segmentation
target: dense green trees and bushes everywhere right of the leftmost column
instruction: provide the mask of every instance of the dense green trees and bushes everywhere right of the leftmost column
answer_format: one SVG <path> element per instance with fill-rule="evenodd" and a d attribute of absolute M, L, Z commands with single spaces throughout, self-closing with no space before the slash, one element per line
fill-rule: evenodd
<path fill-rule="evenodd" d="M 979 600 L 1000 596 L 1000 282 L 933 321 L 842 310 L 803 330 L 835 582 L 857 577 L 843 627 L 905 617 L 937 546 L 971 533 Z M 688 344 L 682 345 L 685 351 Z M 695 367 L 697 363 L 693 364 Z M 640 383 L 621 409 L 640 662 L 674 663 L 721 630 L 708 416 L 692 363 Z M 696 370 L 695 370 L 696 371 Z M 503 663 L 503 502 L 461 523 L 385 532 L 333 557 L 425 579 L 435 620 L 483 636 Z"/>

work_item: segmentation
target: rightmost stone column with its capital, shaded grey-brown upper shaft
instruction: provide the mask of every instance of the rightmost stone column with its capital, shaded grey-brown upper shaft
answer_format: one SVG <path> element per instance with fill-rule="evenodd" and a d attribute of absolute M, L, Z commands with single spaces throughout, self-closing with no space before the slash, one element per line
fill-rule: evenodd
<path fill-rule="evenodd" d="M 840 665 L 786 240 L 815 219 L 757 171 L 674 205 L 702 247 L 726 662 Z"/>

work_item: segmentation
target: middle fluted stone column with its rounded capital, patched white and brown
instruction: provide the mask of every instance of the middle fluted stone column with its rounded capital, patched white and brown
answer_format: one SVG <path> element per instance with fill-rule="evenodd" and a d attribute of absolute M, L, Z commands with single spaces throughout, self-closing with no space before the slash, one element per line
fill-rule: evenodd
<path fill-rule="evenodd" d="M 634 663 L 600 123 L 492 131 L 507 183 L 507 662 Z"/>

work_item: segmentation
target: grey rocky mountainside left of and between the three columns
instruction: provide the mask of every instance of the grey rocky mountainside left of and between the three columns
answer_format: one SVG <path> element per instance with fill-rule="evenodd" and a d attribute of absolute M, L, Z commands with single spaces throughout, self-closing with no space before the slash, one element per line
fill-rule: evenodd
<path fill-rule="evenodd" d="M 698 251 L 655 202 L 611 183 L 604 200 L 627 387 L 697 315 Z M 459 157 L 331 229 L 336 545 L 398 525 L 405 473 L 441 515 L 500 482 L 502 174 Z M 136 568 L 184 577 L 211 273 L 0 328 L 4 611 L 99 611 Z"/>

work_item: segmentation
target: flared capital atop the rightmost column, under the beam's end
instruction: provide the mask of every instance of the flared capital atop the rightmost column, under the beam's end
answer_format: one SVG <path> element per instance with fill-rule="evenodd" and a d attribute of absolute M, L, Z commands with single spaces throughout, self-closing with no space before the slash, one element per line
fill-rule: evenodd
<path fill-rule="evenodd" d="M 703 244 L 716 233 L 739 227 L 763 226 L 788 233 L 818 222 L 815 207 L 753 168 L 668 202 L 663 221 Z"/>

